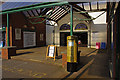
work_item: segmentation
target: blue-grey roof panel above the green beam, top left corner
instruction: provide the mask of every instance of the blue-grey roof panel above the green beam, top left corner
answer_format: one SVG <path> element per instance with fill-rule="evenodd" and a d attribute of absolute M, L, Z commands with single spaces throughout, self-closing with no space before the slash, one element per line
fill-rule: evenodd
<path fill-rule="evenodd" d="M 19 7 L 29 6 L 33 4 L 38 4 L 38 3 L 40 2 L 5 2 L 1 6 L 2 6 L 2 10 L 8 10 L 13 8 L 19 8 Z"/>

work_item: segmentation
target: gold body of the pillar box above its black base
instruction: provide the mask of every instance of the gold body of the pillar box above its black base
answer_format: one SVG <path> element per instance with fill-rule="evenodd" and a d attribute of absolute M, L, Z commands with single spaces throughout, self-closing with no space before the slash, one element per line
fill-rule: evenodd
<path fill-rule="evenodd" d="M 77 36 L 67 37 L 67 62 L 77 63 L 77 51 L 78 51 L 78 38 Z"/>

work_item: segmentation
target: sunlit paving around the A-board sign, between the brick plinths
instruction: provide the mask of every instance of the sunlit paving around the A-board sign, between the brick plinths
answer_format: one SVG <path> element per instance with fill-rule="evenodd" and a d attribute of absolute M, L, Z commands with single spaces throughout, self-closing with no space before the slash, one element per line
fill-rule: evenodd
<path fill-rule="evenodd" d="M 47 47 L 17 50 L 17 55 L 12 56 L 12 59 L 19 59 L 24 61 L 29 60 L 62 66 L 62 52 L 66 53 L 66 47 L 58 48 L 59 57 L 58 59 L 56 59 L 56 61 L 54 61 L 54 59 L 51 58 L 48 58 L 46 60 L 46 51 Z"/>

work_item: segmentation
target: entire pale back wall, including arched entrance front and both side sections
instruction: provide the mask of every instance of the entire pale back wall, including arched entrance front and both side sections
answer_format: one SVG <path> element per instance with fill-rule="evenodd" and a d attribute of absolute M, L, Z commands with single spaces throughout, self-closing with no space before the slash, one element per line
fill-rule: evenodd
<path fill-rule="evenodd" d="M 94 12 L 89 13 L 92 17 L 97 17 L 102 12 Z M 83 30 L 75 31 L 74 28 L 78 23 L 84 23 L 88 26 L 88 47 L 95 48 L 96 42 L 107 42 L 107 24 L 106 24 L 106 13 L 104 13 L 99 18 L 93 20 L 90 23 L 85 21 L 76 20 L 79 19 L 87 19 L 85 16 L 81 14 L 73 14 L 73 31 L 74 32 L 81 32 Z M 58 26 L 55 27 L 55 44 L 60 45 L 60 32 L 70 32 L 70 30 L 62 30 L 60 31 L 60 26 L 62 24 L 69 24 L 70 23 L 70 14 L 64 16 L 61 20 L 58 21 Z M 53 44 L 53 29 L 50 25 L 46 25 L 46 44 L 50 45 Z"/>

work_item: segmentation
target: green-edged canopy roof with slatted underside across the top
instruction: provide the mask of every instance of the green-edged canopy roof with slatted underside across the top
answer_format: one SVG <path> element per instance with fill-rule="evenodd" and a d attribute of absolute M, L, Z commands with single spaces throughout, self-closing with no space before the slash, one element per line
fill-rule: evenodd
<path fill-rule="evenodd" d="M 10 14 L 15 12 L 22 12 L 26 17 L 36 17 L 36 16 L 45 16 L 48 15 L 49 20 L 57 22 L 62 17 L 70 12 L 70 6 L 73 5 L 73 10 L 76 12 L 80 11 L 92 11 L 93 7 L 91 6 L 92 2 L 68 2 L 68 1 L 59 1 L 59 2 L 5 2 L 2 6 L 2 11 L 0 14 Z M 94 10 L 100 11 L 105 10 L 99 9 L 99 3 L 94 3 L 97 7 Z M 0 7 L 1 7 L 0 6 Z M 88 7 L 86 9 L 85 7 Z M 50 14 L 50 11 L 53 13 Z M 82 15 L 87 18 L 91 18 L 88 13 L 82 13 Z"/>

